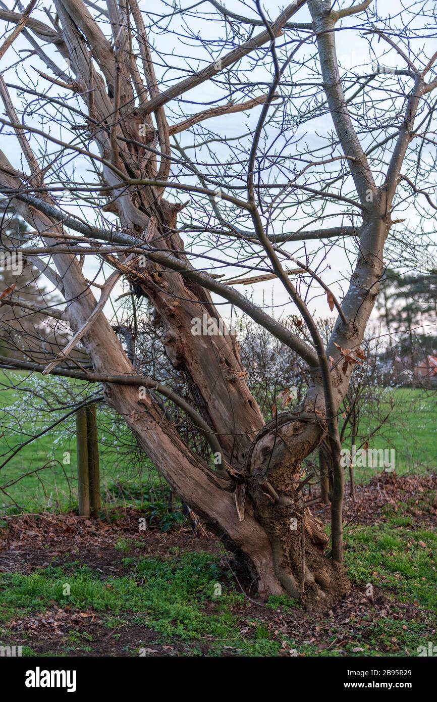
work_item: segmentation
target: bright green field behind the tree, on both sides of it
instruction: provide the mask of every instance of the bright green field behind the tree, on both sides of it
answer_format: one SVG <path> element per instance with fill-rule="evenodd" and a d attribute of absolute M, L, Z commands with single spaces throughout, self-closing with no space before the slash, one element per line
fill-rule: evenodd
<path fill-rule="evenodd" d="M 53 423 L 62 412 L 52 412 L 43 406 L 34 411 L 29 420 L 27 404 L 30 396 L 11 388 L 11 378 L 21 381 L 22 387 L 29 387 L 31 379 L 25 372 L 4 373 L 0 371 L 0 464 L 8 458 L 11 449 L 25 442 L 32 434 L 43 430 Z M 62 397 L 65 379 L 36 378 L 44 383 L 44 388 L 51 388 L 53 399 Z M 62 386 L 62 383 L 64 386 Z M 69 383 L 76 394 L 81 392 L 83 384 L 79 381 Z M 46 392 L 46 390 L 44 391 Z M 396 474 L 422 473 L 436 468 L 437 456 L 437 399 L 424 390 L 399 388 L 393 391 L 394 411 L 391 421 L 370 439 L 372 449 L 395 449 Z M 389 399 L 386 399 L 387 411 Z M 384 408 L 382 412 L 384 411 Z M 130 449 L 133 439 L 124 425 L 112 428 L 112 420 L 107 414 L 98 411 L 100 421 L 100 475 L 104 498 L 112 501 L 118 498 L 112 486 L 130 483 L 138 479 L 146 489 L 158 481 L 152 465 L 142 457 L 132 456 Z M 368 425 L 369 431 L 378 422 L 369 408 L 368 416 L 363 418 L 361 431 Z M 104 425 L 103 425 L 104 424 Z M 123 428 L 121 428 L 123 426 Z M 0 470 L 0 487 L 6 492 L 0 496 L 0 510 L 29 512 L 41 510 L 69 510 L 76 505 L 76 439 L 74 416 L 62 425 L 51 430 L 39 439 L 27 444 L 11 458 Z M 348 447 L 349 448 L 349 447 Z M 126 449 L 126 450 L 125 450 Z M 137 460 L 138 459 L 138 460 Z M 43 468 L 46 466 L 45 468 Z M 41 470 L 41 468 L 43 470 Z M 377 469 L 380 470 L 380 469 Z M 36 471 L 36 472 L 32 472 Z M 18 482 L 22 475 L 26 475 Z M 356 482 L 368 482 L 375 470 L 356 468 Z M 105 491 L 106 489 L 106 491 Z M 109 493 L 107 490 L 109 489 Z"/>

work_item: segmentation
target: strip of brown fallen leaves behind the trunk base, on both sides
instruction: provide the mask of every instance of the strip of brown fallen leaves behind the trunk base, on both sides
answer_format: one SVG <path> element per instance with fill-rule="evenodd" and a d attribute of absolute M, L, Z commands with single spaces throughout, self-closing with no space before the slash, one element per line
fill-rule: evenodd
<path fill-rule="evenodd" d="M 375 476 L 370 483 L 356 488 L 356 502 L 346 496 L 344 521 L 357 524 L 386 522 L 384 508 L 394 512 L 402 506 L 422 528 L 437 527 L 437 475 L 398 477 Z M 311 510 L 324 522 L 330 508 Z M 126 555 L 166 556 L 175 549 L 207 551 L 217 554 L 219 540 L 199 530 L 193 536 L 190 527 L 162 532 L 157 527 L 139 529 L 140 510 L 117 510 L 117 519 L 108 522 L 76 515 L 18 515 L 6 517 L 7 527 L 0 530 L 0 572 L 20 571 L 29 574 L 50 564 L 79 561 L 101 570 L 102 576 L 123 573 Z M 243 574 L 239 574 L 243 578 Z M 250 583 L 242 583 L 250 587 Z M 252 593 L 253 594 L 253 591 Z"/>

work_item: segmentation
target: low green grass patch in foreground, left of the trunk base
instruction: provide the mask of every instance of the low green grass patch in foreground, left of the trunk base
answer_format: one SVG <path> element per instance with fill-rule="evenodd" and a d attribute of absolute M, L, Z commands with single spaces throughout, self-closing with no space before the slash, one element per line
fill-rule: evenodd
<path fill-rule="evenodd" d="M 74 569 L 74 574 L 60 567 L 31 576 L 4 574 L 0 576 L 0 640 L 11 618 L 37 614 L 56 603 L 62 608 L 98 612 L 109 630 L 126 622 L 129 614 L 130 623 L 156 632 L 156 642 L 185 642 L 191 655 L 196 650 L 201 654 L 203 644 L 208 645 L 211 656 L 220 655 L 224 647 L 245 655 L 276 655 L 281 642 L 272 642 L 262 623 L 254 622 L 250 640 L 241 635 L 231 607 L 241 606 L 243 595 L 229 583 L 229 573 L 218 562 L 218 557 L 208 553 L 126 559 L 128 576 L 110 580 L 101 580 L 99 573 L 86 567 Z M 66 583 L 69 596 L 64 594 Z M 222 588 L 220 597 L 215 597 L 217 583 Z M 69 633 L 69 642 L 82 651 L 83 638 L 78 631 Z M 86 640 L 90 642 L 90 635 Z"/>

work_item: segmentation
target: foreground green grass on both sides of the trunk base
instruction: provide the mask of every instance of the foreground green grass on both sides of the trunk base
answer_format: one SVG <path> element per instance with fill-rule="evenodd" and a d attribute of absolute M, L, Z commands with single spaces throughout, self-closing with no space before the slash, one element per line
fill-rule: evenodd
<path fill-rule="evenodd" d="M 424 494 L 424 503 L 431 497 L 431 492 Z M 316 657 L 417 656 L 419 646 L 426 647 L 436 636 L 437 534 L 420 524 L 413 523 L 410 529 L 398 526 L 400 519 L 410 522 L 412 506 L 406 501 L 395 511 L 387 505 L 386 522 L 349 524 L 345 529 L 345 564 L 358 586 L 358 599 L 346 619 L 344 614 L 311 616 L 299 633 L 293 616 L 304 611 L 285 596 L 270 597 L 264 607 L 246 614 L 251 605 L 222 567 L 220 556 L 173 548 L 167 557 L 125 557 L 121 577 L 107 578 L 79 561 L 31 575 L 2 574 L 0 643 L 15 640 L 9 621 L 38 618 L 59 607 L 95 616 L 107 629 L 105 638 L 120 640 L 123 650 L 133 656 L 140 655 L 142 643 L 126 647 L 120 633 L 133 625 L 144 627 L 144 633 L 154 632 L 152 643 L 148 639 L 144 646 L 174 647 L 178 656 L 271 657 L 284 650 L 288 655 L 295 651 Z M 128 552 L 128 543 L 121 543 L 119 550 Z M 385 596 L 379 609 L 368 597 L 368 585 Z M 290 617 L 288 633 L 271 621 L 268 612 Z M 101 631 L 81 630 L 76 619 L 62 645 L 53 644 L 53 655 L 92 654 L 98 635 Z M 34 655 L 32 641 L 26 643 L 23 655 Z"/>

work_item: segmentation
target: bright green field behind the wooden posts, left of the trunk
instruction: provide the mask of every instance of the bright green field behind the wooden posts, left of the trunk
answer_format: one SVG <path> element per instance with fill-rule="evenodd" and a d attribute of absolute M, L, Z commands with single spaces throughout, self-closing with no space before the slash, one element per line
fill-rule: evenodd
<path fill-rule="evenodd" d="M 67 392 L 74 399 L 84 399 L 83 383 L 66 381 L 64 378 L 36 378 L 43 383 L 45 391 L 50 391 L 51 403 L 67 404 Z M 51 412 L 38 399 L 37 410 L 29 412 L 31 395 L 11 388 L 12 383 L 20 383 L 23 388 L 32 388 L 35 378 L 27 373 L 5 373 L 0 371 L 0 465 L 13 451 L 48 425 L 53 424 L 64 411 Z M 67 388 L 67 390 L 65 390 Z M 89 392 L 89 391 L 88 391 Z M 142 453 L 138 458 L 131 453 L 135 448 L 130 431 L 123 423 L 112 427 L 113 418 L 109 411 L 98 410 L 100 478 L 104 498 L 117 501 L 119 485 L 135 484 L 149 489 L 159 484 L 156 471 Z M 20 478 L 18 482 L 17 479 Z M 117 486 L 114 491 L 114 486 Z M 0 487 L 6 492 L 0 494 L 0 512 L 24 510 L 71 510 L 76 506 L 76 435 L 74 415 L 38 439 L 27 444 L 11 457 L 0 470 Z M 1 510 L 3 508 L 3 510 Z"/>

